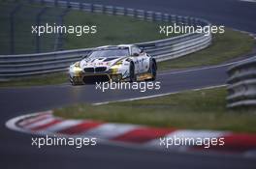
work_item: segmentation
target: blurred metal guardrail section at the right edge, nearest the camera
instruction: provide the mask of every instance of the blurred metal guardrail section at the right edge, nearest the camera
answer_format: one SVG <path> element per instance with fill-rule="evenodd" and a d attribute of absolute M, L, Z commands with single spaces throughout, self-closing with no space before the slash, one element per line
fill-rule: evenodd
<path fill-rule="evenodd" d="M 228 70 L 227 107 L 256 105 L 256 56 Z"/>

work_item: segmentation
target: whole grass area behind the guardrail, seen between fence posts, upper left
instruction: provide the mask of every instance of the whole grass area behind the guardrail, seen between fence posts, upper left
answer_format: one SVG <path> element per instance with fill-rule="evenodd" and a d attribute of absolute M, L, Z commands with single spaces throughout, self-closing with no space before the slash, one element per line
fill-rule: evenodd
<path fill-rule="evenodd" d="M 31 26 L 37 24 L 37 15 L 45 8 L 44 5 L 22 3 L 14 15 L 15 31 L 15 54 L 35 53 L 36 35 L 31 34 Z M 17 7 L 18 3 L 5 2 L 0 0 L 0 54 L 10 54 L 11 50 L 11 21 L 10 14 Z M 59 16 L 65 9 L 47 8 L 41 17 L 40 25 L 59 24 Z M 158 32 L 157 22 L 140 21 L 129 16 L 113 16 L 106 14 L 90 14 L 83 11 L 71 10 L 64 16 L 66 26 L 96 25 L 96 34 L 83 34 L 78 37 L 76 34 L 63 35 L 63 46 L 61 49 L 76 49 L 95 47 L 106 44 L 148 42 L 165 39 L 163 34 Z M 41 52 L 59 49 L 57 34 L 44 34 L 41 36 Z"/>

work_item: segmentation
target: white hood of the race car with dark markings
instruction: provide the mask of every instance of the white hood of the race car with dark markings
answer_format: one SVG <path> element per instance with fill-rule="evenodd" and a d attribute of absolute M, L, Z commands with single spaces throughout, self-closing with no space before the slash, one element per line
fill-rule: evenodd
<path fill-rule="evenodd" d="M 112 67 L 116 62 L 126 58 L 127 56 L 122 57 L 99 57 L 99 58 L 85 58 L 80 61 L 80 68 L 92 68 L 92 67 Z"/>

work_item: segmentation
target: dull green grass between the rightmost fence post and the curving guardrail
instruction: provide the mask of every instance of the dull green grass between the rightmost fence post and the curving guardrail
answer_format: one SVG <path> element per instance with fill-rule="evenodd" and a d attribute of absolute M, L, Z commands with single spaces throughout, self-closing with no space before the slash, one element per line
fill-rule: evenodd
<path fill-rule="evenodd" d="M 88 14 L 71 11 L 65 17 L 66 25 L 96 25 L 96 34 L 67 35 L 65 48 L 75 49 L 100 45 L 148 42 L 165 39 L 158 32 L 157 22 L 138 20 L 129 16 Z"/>

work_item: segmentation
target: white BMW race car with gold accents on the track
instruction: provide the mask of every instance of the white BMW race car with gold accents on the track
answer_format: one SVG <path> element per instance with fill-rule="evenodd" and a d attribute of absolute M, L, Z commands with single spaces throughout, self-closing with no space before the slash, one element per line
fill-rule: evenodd
<path fill-rule="evenodd" d="M 156 79 L 154 58 L 134 44 L 101 46 L 69 68 L 72 85 Z"/>

